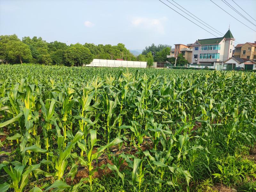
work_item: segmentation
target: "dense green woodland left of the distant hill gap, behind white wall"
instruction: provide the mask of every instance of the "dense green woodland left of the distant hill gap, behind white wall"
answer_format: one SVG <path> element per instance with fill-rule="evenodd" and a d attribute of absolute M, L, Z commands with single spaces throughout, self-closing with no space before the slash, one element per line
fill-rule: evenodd
<path fill-rule="evenodd" d="M 9 50 L 7 50 L 7 43 L 15 41 L 20 43 L 20 39 L 17 37 L 17 35 L 1 35 L 0 36 L 0 59 L 2 62 L 7 63 L 17 63 L 22 62 L 19 58 L 19 55 L 23 56 L 22 59 L 24 59 L 25 62 L 31 62 L 35 64 L 44 64 L 44 65 L 68 65 L 68 66 L 80 66 L 82 64 L 89 64 L 91 58 L 97 58 L 97 59 L 116 59 L 120 58 L 123 60 L 128 61 L 136 61 L 137 58 L 128 50 L 125 48 L 125 45 L 123 43 L 118 43 L 117 45 L 94 45 L 93 43 L 85 43 L 83 45 L 84 48 L 89 49 L 89 53 L 87 49 L 81 48 L 71 48 L 74 45 L 68 46 L 66 43 L 63 42 L 46 42 L 42 39 L 42 37 L 36 37 L 33 38 L 30 37 L 23 37 L 22 42 L 29 46 L 29 49 L 31 51 L 31 56 L 28 55 L 28 49 L 24 49 L 22 47 L 18 47 L 17 44 L 17 50 L 16 52 L 13 51 L 12 46 L 12 52 L 9 54 Z M 9 43 L 11 44 L 11 43 Z M 79 44 L 79 43 L 77 43 Z M 75 45 L 77 45 L 75 44 Z M 20 49 L 22 48 L 22 49 Z M 26 47 L 28 48 L 28 47 Z M 69 49 L 69 50 L 67 50 Z M 72 51 L 71 51 L 72 50 Z M 81 55 L 81 50 L 84 52 L 87 56 L 85 57 L 83 54 Z M 86 51 L 85 51 L 86 50 Z M 19 53 L 17 53 L 19 51 Z M 71 58 L 71 55 L 69 53 L 69 56 L 67 56 L 68 52 L 71 51 L 72 54 L 75 54 L 73 58 Z M 18 54 L 18 55 L 17 55 Z M 64 57 L 64 55 L 66 56 Z M 78 61 L 79 59 L 77 57 L 81 57 L 81 61 Z M 18 57 L 18 58 L 17 58 Z M 88 58 L 87 58 L 88 57 Z M 85 60 L 84 60 L 85 59 Z M 85 63 L 84 63 L 85 61 Z"/>

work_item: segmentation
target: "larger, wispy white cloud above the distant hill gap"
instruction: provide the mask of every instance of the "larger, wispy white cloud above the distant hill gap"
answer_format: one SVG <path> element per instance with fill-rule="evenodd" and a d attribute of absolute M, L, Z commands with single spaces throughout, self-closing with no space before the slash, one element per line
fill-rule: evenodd
<path fill-rule="evenodd" d="M 150 19 L 150 18 L 144 18 L 144 17 L 137 17 L 132 19 L 132 25 L 134 27 L 144 28 L 144 29 L 150 29 L 154 30 L 160 34 L 164 34 L 164 21 L 166 21 L 167 18 L 159 18 L 159 19 Z"/>

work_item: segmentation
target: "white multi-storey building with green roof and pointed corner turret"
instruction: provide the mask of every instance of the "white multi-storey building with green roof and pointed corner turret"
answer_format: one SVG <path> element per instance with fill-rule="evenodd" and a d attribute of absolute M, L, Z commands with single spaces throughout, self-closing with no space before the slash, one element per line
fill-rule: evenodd
<path fill-rule="evenodd" d="M 193 45 L 190 67 L 223 69 L 221 63 L 232 57 L 235 38 L 228 29 L 223 37 L 198 39 Z"/>

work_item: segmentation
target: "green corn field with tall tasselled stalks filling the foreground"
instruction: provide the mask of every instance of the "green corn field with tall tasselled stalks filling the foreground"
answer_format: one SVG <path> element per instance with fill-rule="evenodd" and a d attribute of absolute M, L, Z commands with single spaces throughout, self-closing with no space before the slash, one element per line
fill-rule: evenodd
<path fill-rule="evenodd" d="M 235 180 L 229 158 L 255 144 L 256 73 L 0 69 L 0 191 L 109 191 L 110 181 L 117 192 L 195 191 L 209 178 L 256 179 L 252 160 Z"/>

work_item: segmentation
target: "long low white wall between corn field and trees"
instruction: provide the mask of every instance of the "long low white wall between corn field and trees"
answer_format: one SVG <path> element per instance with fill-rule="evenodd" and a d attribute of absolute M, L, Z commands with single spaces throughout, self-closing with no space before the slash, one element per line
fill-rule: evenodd
<path fill-rule="evenodd" d="M 85 65 L 86 67 L 138 67 L 146 68 L 147 62 L 144 61 L 119 61 L 108 59 L 93 59 L 92 63 Z"/>

